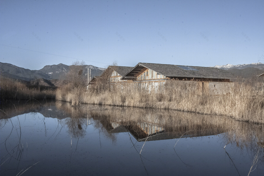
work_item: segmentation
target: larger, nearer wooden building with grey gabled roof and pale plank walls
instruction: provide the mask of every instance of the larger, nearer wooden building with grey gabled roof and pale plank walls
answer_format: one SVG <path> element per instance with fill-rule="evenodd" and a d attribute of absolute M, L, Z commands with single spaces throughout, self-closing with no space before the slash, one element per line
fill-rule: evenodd
<path fill-rule="evenodd" d="M 121 80 L 133 80 L 134 87 L 149 91 L 161 90 L 167 80 L 196 81 L 197 89 L 210 94 L 226 94 L 230 90 L 230 79 L 237 78 L 235 74 L 213 67 L 138 63 Z"/>

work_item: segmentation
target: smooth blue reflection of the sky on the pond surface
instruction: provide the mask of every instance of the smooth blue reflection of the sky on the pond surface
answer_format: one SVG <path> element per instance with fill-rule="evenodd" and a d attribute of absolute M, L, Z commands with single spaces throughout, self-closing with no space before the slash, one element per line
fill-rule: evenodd
<path fill-rule="evenodd" d="M 14 128 L 7 139 L 7 149 L 5 149 L 5 144 L 2 142 L 11 132 L 11 121 Z M 94 120 L 91 120 L 91 125 L 87 126 L 83 138 L 71 138 L 69 125 L 66 124 L 66 121 L 68 118 L 59 120 L 58 123 L 56 118 L 44 118 L 40 113 L 23 114 L 8 119 L 0 133 L 1 157 L 18 144 L 19 123 L 21 144 L 24 150 L 21 162 L 15 159 L 11 159 L 10 162 L 8 160 L 1 166 L 1 171 L 16 169 L 17 165 L 19 165 L 18 170 L 20 171 L 28 165 L 41 161 L 35 167 L 27 170 L 25 174 L 146 175 L 146 170 L 149 175 L 238 174 L 223 149 L 226 143 L 223 141 L 222 135 L 180 138 L 179 141 L 178 139 L 147 141 L 144 144 L 144 142 L 137 142 L 131 134 L 130 139 L 128 133 L 123 132 L 115 133 L 116 140 L 113 143 L 100 128 L 95 127 Z M 82 123 L 85 122 L 87 123 L 87 120 L 84 118 Z M 178 142 L 174 151 L 176 141 Z M 135 144 L 134 147 L 132 142 Z M 141 149 L 142 157 L 140 158 L 138 152 Z M 253 158 L 248 154 L 247 149 L 238 150 L 236 145 L 232 144 L 227 145 L 225 149 L 232 156 L 239 173 L 241 175 L 248 174 Z M 263 169 L 261 163 L 259 163 L 259 167 Z M 250 175 L 263 175 L 262 171 L 255 170 Z M 15 170 L 4 173 L 15 175 Z"/>

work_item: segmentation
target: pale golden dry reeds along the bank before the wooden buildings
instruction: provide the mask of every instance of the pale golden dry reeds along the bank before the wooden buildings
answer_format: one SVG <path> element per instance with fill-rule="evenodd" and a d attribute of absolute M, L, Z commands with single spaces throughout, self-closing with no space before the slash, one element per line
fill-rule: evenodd
<path fill-rule="evenodd" d="M 259 85 L 261 86 L 261 85 Z M 197 90 L 197 82 L 168 81 L 155 93 L 130 86 L 105 91 L 58 89 L 56 99 L 72 105 L 99 104 L 139 108 L 173 109 L 200 114 L 224 115 L 235 120 L 264 123 L 264 96 L 259 86 L 233 83 L 226 95 L 211 95 Z"/>

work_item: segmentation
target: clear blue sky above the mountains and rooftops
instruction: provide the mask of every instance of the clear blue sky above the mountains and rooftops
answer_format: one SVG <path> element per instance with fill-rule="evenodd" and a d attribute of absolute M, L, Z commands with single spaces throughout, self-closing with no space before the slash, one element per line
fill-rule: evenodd
<path fill-rule="evenodd" d="M 264 0 L 0 1 L 0 62 L 215 66 L 264 62 Z"/>

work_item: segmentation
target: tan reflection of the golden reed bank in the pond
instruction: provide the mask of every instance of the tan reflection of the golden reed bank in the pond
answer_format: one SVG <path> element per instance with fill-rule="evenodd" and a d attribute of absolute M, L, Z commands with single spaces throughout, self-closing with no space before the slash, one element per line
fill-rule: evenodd
<path fill-rule="evenodd" d="M 56 106 L 61 109 L 66 108 L 64 111 L 73 111 L 74 109 L 70 104 L 63 102 L 57 102 Z M 100 127 L 100 131 L 109 133 L 108 135 L 114 135 L 111 134 L 113 128 L 122 125 L 128 130 L 132 128 L 136 130 L 137 132 L 134 134 L 142 136 L 144 133 L 145 137 L 143 137 L 146 138 L 146 136 L 151 135 L 148 133 L 147 126 L 158 126 L 162 127 L 168 135 L 173 135 L 174 138 L 179 138 L 187 131 L 189 131 L 186 133 L 188 137 L 221 134 L 225 144 L 229 141 L 229 145 L 235 144 L 241 148 L 252 147 L 252 140 L 255 140 L 255 146 L 257 146 L 257 142 L 264 141 L 262 125 L 235 121 L 227 117 L 174 110 L 122 108 L 106 105 L 85 105 L 79 107 L 79 111 L 82 114 L 80 117 L 84 119 L 83 124 L 87 124 L 87 116 L 93 118 L 93 125 L 96 128 Z M 138 130 L 141 130 L 142 134 Z"/>

